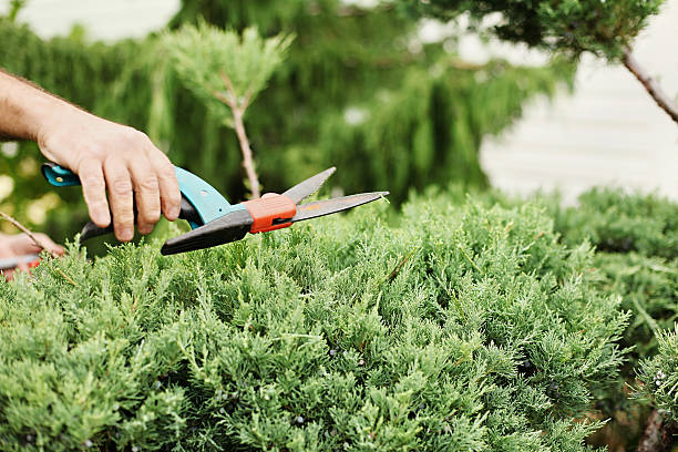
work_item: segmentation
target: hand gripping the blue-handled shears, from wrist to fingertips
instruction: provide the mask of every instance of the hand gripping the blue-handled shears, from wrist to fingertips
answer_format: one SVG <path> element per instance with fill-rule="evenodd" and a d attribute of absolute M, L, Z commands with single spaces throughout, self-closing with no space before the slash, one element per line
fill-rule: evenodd
<path fill-rule="evenodd" d="M 37 142 L 45 157 L 80 176 L 96 226 L 109 226 L 113 214 L 119 240 L 134 236 L 135 201 L 141 234 L 153 230 L 161 209 L 170 220 L 178 217 L 181 192 L 174 166 L 144 133 L 64 104 L 47 115 Z"/>

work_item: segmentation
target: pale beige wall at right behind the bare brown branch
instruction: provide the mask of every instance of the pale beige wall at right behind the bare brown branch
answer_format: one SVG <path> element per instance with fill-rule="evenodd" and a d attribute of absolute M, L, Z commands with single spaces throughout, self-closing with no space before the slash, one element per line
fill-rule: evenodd
<path fill-rule="evenodd" d="M 637 59 L 678 94 L 678 0 L 636 44 Z M 491 182 L 513 193 L 559 188 L 566 202 L 594 185 L 658 191 L 678 199 L 678 125 L 623 66 L 585 58 L 573 95 L 537 100 L 481 152 Z"/>

